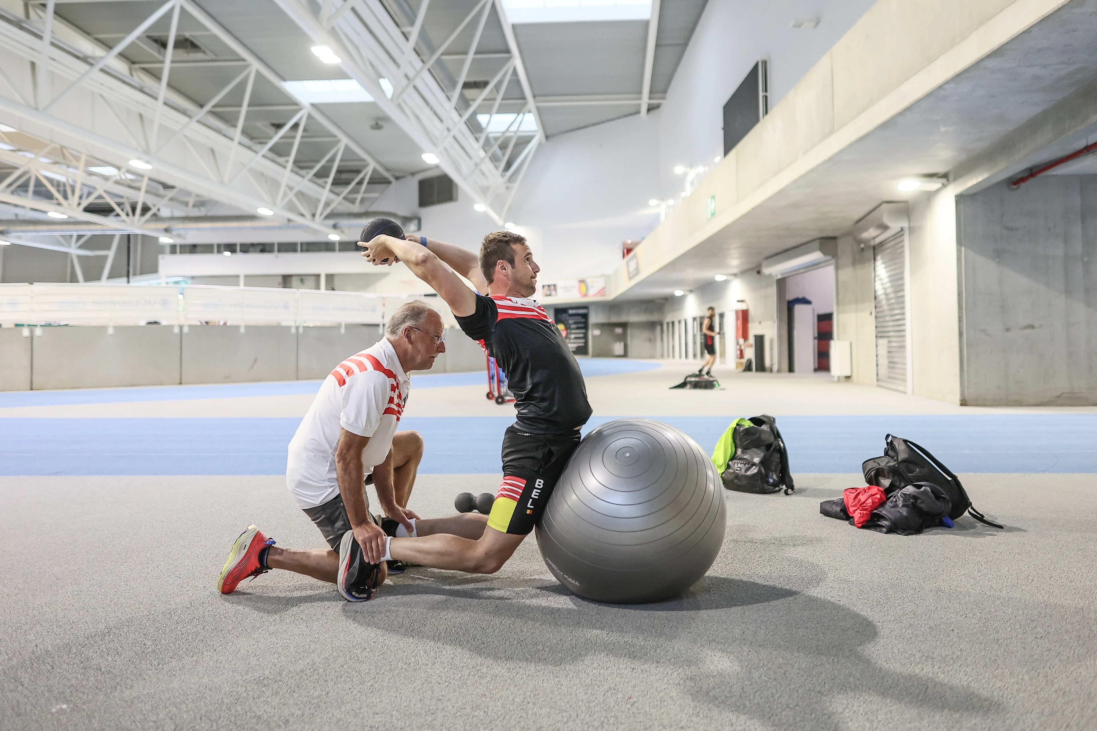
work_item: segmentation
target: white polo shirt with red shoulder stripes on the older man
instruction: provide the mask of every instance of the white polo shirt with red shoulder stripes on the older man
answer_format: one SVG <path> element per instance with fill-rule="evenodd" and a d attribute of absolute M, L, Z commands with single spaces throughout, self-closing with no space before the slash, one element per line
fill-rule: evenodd
<path fill-rule="evenodd" d="M 340 429 L 370 437 L 362 453 L 366 475 L 385 461 L 410 390 L 387 338 L 336 366 L 290 441 L 285 483 L 298 507 L 316 507 L 339 494 Z"/>

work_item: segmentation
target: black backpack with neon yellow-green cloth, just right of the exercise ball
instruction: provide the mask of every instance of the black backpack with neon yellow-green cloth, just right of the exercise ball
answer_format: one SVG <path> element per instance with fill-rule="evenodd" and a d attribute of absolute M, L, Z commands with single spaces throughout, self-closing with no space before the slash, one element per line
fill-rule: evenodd
<path fill-rule="evenodd" d="M 731 444 L 727 441 L 731 441 Z M 721 475 L 724 487 L 739 492 L 780 492 L 790 495 L 796 489 L 789 470 L 789 453 L 770 415 L 738 419 L 724 436 L 724 454 L 734 446 L 727 467 Z M 721 444 L 716 445 L 717 453 Z M 717 465 L 719 467 L 719 465 Z"/>

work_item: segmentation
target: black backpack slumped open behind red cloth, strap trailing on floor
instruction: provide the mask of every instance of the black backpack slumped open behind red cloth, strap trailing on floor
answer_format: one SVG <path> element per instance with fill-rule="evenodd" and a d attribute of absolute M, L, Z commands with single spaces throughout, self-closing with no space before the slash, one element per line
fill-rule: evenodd
<path fill-rule="evenodd" d="M 866 459 L 861 465 L 866 484 L 880 487 L 891 502 L 892 495 L 909 486 L 929 487 L 931 491 L 949 501 L 948 516 L 955 521 L 968 513 L 980 523 L 1002 528 L 986 519 L 975 510 L 968 498 L 968 491 L 953 475 L 929 450 L 908 439 L 889 434 L 884 437 L 884 454 Z M 912 492 L 912 491 L 907 491 Z M 886 504 L 886 503 L 885 503 Z"/>

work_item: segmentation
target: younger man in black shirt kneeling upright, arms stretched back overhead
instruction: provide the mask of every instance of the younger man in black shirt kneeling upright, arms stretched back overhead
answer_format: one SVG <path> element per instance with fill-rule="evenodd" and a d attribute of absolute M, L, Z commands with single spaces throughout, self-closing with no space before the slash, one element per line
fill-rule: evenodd
<path fill-rule="evenodd" d="M 392 538 L 387 553 L 367 559 L 494 573 L 541 518 L 591 413 L 575 356 L 544 309 L 528 299 L 541 269 L 525 239 L 510 231 L 488 235 L 478 258 L 418 236 L 378 236 L 359 245 L 374 264 L 403 261 L 445 299 L 461 329 L 507 374 L 518 408 L 504 435 L 502 482 L 484 535 Z M 470 289 L 459 272 L 487 295 Z"/>

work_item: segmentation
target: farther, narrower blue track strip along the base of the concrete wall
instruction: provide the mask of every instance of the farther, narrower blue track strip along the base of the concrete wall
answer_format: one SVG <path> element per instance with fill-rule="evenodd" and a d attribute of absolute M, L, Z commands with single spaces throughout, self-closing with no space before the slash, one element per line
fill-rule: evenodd
<path fill-rule="evenodd" d="M 656 363 L 625 358 L 579 358 L 583 375 L 612 376 L 658 368 Z M 60 391 L 7 391 L 0 392 L 0 408 L 67 406 L 73 403 L 125 403 L 133 401 L 189 401 L 192 399 L 230 399 L 256 396 L 313 395 L 320 388 L 319 380 L 285 380 L 262 384 L 210 384 L 201 386 L 139 386 L 134 388 L 75 388 Z M 484 370 L 472 373 L 439 373 L 414 376 L 412 388 L 441 388 L 443 386 L 487 387 Z"/>

